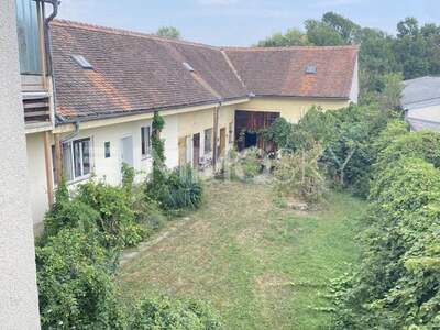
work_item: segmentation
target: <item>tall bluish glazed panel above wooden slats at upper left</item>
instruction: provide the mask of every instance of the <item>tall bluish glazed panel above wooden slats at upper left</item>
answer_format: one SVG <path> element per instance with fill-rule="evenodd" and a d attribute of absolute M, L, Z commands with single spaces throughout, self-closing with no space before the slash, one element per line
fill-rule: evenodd
<path fill-rule="evenodd" d="M 42 74 L 37 6 L 37 2 L 33 0 L 16 0 L 16 32 L 21 74 Z"/>

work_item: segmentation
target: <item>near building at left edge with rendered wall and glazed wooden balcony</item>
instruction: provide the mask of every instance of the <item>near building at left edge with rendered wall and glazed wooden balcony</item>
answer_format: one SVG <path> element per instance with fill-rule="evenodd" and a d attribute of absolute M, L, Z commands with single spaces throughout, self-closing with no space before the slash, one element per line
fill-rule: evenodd
<path fill-rule="evenodd" d="M 40 329 L 30 207 L 30 201 L 34 201 L 32 196 L 34 187 L 29 194 L 25 134 L 53 129 L 48 106 L 50 86 L 44 77 L 45 2 L 53 1 L 0 1 L 2 119 L 0 122 L 0 324 L 2 329 Z M 32 152 L 37 153 L 42 145 L 43 141 Z M 28 160 L 29 155 L 28 153 Z M 46 177 L 44 167 L 40 175 Z"/>

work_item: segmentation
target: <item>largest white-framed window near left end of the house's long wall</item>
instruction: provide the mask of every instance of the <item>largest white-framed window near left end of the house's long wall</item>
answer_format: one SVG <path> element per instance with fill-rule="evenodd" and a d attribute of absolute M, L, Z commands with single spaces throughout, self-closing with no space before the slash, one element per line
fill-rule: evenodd
<path fill-rule="evenodd" d="M 90 138 L 63 143 L 63 175 L 73 180 L 91 172 Z"/>

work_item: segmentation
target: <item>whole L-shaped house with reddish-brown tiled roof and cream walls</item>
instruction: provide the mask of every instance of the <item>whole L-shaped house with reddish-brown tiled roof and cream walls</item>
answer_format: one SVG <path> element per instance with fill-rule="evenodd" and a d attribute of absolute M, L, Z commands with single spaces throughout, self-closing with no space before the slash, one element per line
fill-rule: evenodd
<path fill-rule="evenodd" d="M 128 163 L 141 180 L 152 166 L 155 111 L 165 120 L 166 165 L 204 169 L 243 132 L 244 146 L 256 145 L 255 131 L 277 117 L 296 122 L 312 105 L 331 110 L 358 99 L 353 46 L 221 48 L 69 21 L 54 21 L 51 36 L 53 168 L 47 179 L 44 153 L 30 153 L 35 223 L 62 175 L 72 185 L 92 173 L 117 185 Z M 41 134 L 31 138 L 43 147 Z"/>

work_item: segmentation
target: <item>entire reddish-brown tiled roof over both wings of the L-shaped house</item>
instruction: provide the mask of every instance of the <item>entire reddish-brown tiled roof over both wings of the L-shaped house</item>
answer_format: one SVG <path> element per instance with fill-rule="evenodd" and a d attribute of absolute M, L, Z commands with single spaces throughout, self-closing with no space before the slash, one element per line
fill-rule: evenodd
<path fill-rule="evenodd" d="M 51 36 L 56 112 L 66 120 L 213 103 L 249 92 L 349 98 L 356 57 L 355 47 L 222 51 L 68 21 L 54 21 Z M 82 55 L 94 69 L 81 68 L 72 55 Z M 305 75 L 306 65 L 316 65 L 317 75 Z"/>

